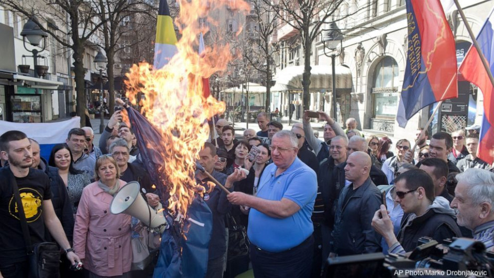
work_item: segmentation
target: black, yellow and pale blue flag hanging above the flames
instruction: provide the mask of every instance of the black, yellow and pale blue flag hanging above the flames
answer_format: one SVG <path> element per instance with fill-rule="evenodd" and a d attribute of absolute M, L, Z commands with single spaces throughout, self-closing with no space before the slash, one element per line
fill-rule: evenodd
<path fill-rule="evenodd" d="M 158 10 L 158 20 L 156 23 L 156 40 L 154 44 L 154 63 L 153 66 L 159 70 L 166 65 L 173 55 L 177 53 L 177 36 L 173 28 L 173 19 L 170 15 L 170 9 L 166 0 L 160 0 L 160 9 Z"/>

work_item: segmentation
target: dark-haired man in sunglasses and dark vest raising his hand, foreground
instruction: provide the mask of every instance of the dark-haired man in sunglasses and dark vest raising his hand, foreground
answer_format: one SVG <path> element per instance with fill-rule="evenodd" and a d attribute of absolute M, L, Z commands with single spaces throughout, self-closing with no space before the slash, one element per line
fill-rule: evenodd
<path fill-rule="evenodd" d="M 381 205 L 372 219 L 372 227 L 386 240 L 389 253 L 404 254 L 417 247 L 420 237 L 428 236 L 439 243 L 461 236 L 455 212 L 443 197 L 434 198 L 434 183 L 427 172 L 413 169 L 395 179 L 395 200 L 406 216 L 396 237 L 393 223 Z"/>

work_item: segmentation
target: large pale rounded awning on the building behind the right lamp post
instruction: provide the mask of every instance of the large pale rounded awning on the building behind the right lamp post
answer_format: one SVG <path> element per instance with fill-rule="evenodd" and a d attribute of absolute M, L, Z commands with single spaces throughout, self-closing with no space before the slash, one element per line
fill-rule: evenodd
<path fill-rule="evenodd" d="M 328 65 L 311 66 L 310 90 L 331 90 L 332 72 Z M 271 92 L 302 91 L 302 75 L 304 66 L 289 66 L 276 75 L 276 84 Z M 352 87 L 351 71 L 346 66 L 336 67 L 336 89 L 350 89 Z"/>

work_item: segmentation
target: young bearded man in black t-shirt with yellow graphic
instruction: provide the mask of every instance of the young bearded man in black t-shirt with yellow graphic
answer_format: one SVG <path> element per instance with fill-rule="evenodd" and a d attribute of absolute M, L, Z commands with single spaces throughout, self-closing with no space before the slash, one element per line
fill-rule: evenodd
<path fill-rule="evenodd" d="M 71 264 L 79 262 L 79 257 L 70 248 L 60 220 L 51 203 L 50 181 L 42 170 L 30 168 L 32 165 L 31 143 L 26 134 L 20 131 L 7 131 L 0 136 L 0 155 L 9 166 L 0 169 L 0 276 L 27 277 L 28 257 L 22 233 L 19 211 L 14 196 L 10 175 L 14 175 L 31 243 L 46 241 L 45 226 L 51 236 L 65 250 Z"/>

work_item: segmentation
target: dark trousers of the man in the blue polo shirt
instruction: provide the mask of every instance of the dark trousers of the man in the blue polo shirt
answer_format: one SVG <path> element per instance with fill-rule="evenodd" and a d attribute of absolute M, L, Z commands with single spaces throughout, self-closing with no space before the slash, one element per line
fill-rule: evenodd
<path fill-rule="evenodd" d="M 310 277 L 314 238 L 281 252 L 268 252 L 251 243 L 251 262 L 256 278 Z"/>

